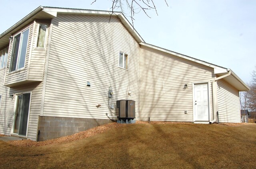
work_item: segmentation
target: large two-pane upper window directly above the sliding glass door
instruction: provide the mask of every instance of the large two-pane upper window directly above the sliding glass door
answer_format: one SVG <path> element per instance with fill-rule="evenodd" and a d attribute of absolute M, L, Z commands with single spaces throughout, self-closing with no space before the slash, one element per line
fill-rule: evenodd
<path fill-rule="evenodd" d="M 29 29 L 20 32 L 13 38 L 12 59 L 10 72 L 21 69 L 25 66 Z"/>

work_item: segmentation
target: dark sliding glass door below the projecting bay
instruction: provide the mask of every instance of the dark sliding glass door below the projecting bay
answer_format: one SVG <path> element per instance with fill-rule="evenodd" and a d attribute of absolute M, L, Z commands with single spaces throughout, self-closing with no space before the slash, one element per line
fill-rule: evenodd
<path fill-rule="evenodd" d="M 28 125 L 28 111 L 30 93 L 17 95 L 16 108 L 14 111 L 13 133 L 26 136 Z"/>

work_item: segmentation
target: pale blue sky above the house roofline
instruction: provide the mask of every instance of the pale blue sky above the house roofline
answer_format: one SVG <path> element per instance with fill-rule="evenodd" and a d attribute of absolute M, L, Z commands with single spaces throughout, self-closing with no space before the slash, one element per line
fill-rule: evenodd
<path fill-rule="evenodd" d="M 111 0 L 0 0 L 0 34 L 38 6 L 110 10 Z M 146 43 L 232 69 L 245 83 L 256 66 L 256 0 L 154 0 L 134 28 Z M 127 11 L 128 12 L 128 11 Z M 127 19 L 130 20 L 128 14 Z"/>

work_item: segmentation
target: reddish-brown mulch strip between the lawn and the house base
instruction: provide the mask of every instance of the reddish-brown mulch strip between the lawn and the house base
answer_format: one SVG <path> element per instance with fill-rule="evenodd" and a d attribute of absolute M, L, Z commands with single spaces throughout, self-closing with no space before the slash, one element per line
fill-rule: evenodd
<path fill-rule="evenodd" d="M 192 122 L 160 122 L 160 121 L 136 121 L 136 124 L 192 124 Z M 105 132 L 106 130 L 109 130 L 111 128 L 120 127 L 124 124 L 118 124 L 116 122 L 104 124 L 102 126 L 98 126 L 95 128 L 88 129 L 83 132 L 79 132 L 70 136 L 64 136 L 61 138 L 56 138 L 52 140 L 46 140 L 46 141 L 32 141 L 32 140 L 15 140 L 15 141 L 8 141 L 8 143 L 20 147 L 36 147 L 36 146 L 44 146 L 44 145 L 52 145 L 52 144 L 58 144 L 58 143 L 64 143 L 69 141 L 75 141 L 75 140 L 81 140 L 83 138 L 88 138 L 90 136 L 95 136 L 96 134 L 100 134 L 102 132 Z M 242 123 L 221 123 L 221 125 L 225 126 L 237 126 L 242 125 Z M 6 136 L 6 135 L 0 135 L 0 136 Z"/>

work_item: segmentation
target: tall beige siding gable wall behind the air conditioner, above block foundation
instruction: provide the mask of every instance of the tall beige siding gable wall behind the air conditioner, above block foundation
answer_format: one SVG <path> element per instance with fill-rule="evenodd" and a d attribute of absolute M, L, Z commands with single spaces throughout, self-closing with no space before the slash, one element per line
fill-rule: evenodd
<path fill-rule="evenodd" d="M 108 119 L 108 88 L 116 100 L 136 101 L 139 108 L 140 47 L 112 16 L 58 15 L 52 20 L 44 116 Z M 119 51 L 129 56 L 128 70 L 118 67 Z M 90 81 L 91 86 L 86 86 Z M 131 90 L 131 96 L 128 91 Z M 101 104 L 101 108 L 96 105 Z"/>

